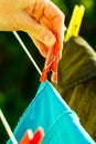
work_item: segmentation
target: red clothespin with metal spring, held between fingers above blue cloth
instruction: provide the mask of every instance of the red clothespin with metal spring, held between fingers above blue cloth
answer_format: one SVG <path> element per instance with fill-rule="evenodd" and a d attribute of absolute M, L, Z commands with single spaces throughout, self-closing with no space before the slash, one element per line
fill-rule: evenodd
<path fill-rule="evenodd" d="M 45 60 L 44 69 L 42 71 L 42 75 L 40 78 L 41 82 L 46 81 L 47 73 L 52 71 L 52 81 L 57 83 L 57 62 L 60 59 L 60 53 L 55 48 L 50 48 L 47 52 L 47 56 Z"/>

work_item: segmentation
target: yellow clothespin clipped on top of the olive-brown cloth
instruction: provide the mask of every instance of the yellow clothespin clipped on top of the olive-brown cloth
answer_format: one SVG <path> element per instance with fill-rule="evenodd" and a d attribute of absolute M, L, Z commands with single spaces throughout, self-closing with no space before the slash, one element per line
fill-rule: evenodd
<path fill-rule="evenodd" d="M 68 24 L 68 29 L 64 38 L 64 42 L 67 42 L 71 37 L 78 35 L 84 11 L 85 11 L 84 6 L 79 6 L 79 7 L 75 6 L 72 18 L 71 18 L 71 22 Z"/>

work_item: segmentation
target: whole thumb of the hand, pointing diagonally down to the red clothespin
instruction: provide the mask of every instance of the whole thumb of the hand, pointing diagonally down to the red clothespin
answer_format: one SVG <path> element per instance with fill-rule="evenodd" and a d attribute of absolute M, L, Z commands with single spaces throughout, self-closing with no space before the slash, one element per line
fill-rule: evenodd
<path fill-rule="evenodd" d="M 55 35 L 45 27 L 30 18 L 28 13 L 19 16 L 19 29 L 26 32 L 31 38 L 34 37 L 46 47 L 52 47 L 56 42 Z"/>

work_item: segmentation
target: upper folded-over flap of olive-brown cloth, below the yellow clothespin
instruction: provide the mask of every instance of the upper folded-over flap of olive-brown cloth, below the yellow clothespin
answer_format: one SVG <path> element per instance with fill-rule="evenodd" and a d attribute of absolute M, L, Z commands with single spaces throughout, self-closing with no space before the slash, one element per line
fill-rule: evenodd
<path fill-rule="evenodd" d="M 58 85 L 67 90 L 94 76 L 96 52 L 82 37 L 71 38 L 58 64 Z"/>

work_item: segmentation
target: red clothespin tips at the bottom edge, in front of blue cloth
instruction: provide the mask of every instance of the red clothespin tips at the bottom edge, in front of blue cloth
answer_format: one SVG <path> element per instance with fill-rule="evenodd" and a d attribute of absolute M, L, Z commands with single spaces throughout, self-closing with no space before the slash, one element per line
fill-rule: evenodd
<path fill-rule="evenodd" d="M 31 130 L 28 130 L 20 144 L 41 144 L 44 136 L 44 132 L 42 127 L 39 127 L 33 134 Z"/>

